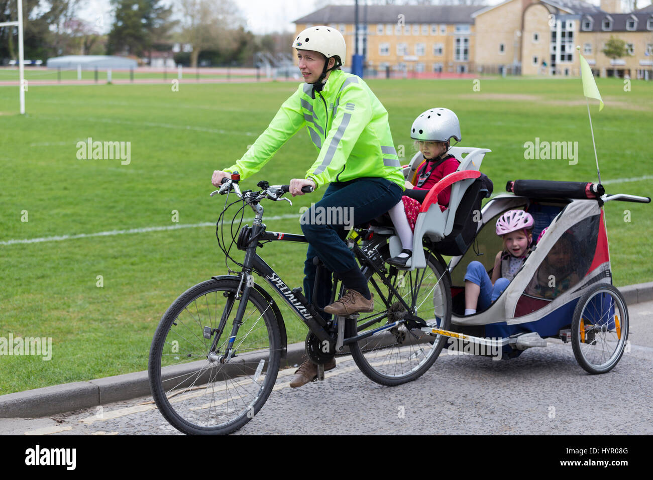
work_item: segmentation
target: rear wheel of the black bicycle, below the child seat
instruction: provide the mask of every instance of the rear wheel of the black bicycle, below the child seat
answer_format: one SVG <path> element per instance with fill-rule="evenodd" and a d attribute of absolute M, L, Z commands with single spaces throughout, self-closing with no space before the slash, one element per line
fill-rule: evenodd
<path fill-rule="evenodd" d="M 393 269 L 396 272 L 392 275 L 392 285 L 406 300 L 406 303 L 415 308 L 415 315 L 422 317 L 433 327 L 437 325 L 439 328 L 447 329 L 451 325 L 449 277 L 434 255 L 428 250 L 424 251 L 424 255 L 426 268 L 418 268 L 412 272 Z M 384 261 L 390 257 L 388 246 L 381 249 L 381 257 Z M 398 302 L 392 302 L 389 288 L 383 285 L 379 276 L 371 268 L 364 268 L 364 275 L 370 282 L 370 291 L 375 295 L 375 310 L 373 313 L 360 313 L 357 322 L 347 321 L 345 325 L 347 338 L 392 323 L 392 319 L 389 320 L 386 317 L 368 327 L 362 327 L 372 323 L 377 317 L 383 317 L 393 311 L 405 311 L 402 306 L 398 307 L 400 305 Z M 404 278 L 403 287 L 400 280 L 402 276 Z M 390 308 L 379 298 L 378 291 L 372 285 L 372 280 L 384 294 Z M 434 300 L 430 308 L 428 307 L 430 302 L 426 303 L 429 297 Z M 358 368 L 365 376 L 381 385 L 393 386 L 413 381 L 422 376 L 438 359 L 445 342 L 446 338 L 443 336 L 430 336 L 419 329 L 400 325 L 350 344 L 349 349 Z"/>

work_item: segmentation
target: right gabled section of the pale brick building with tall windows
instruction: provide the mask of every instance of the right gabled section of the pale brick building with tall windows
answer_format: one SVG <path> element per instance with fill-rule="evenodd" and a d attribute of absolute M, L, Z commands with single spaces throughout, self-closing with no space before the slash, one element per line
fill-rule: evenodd
<path fill-rule="evenodd" d="M 596 7 L 579 0 L 507 0 L 472 14 L 478 46 L 475 63 L 525 75 L 580 74 L 576 46 L 595 75 L 651 78 L 653 12 L 622 13 L 619 0 Z M 631 56 L 611 60 L 601 50 L 613 35 Z"/>

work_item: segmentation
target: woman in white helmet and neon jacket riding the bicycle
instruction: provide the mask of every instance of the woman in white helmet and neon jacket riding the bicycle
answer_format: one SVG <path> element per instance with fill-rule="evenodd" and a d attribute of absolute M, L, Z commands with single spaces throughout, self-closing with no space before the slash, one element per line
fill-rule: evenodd
<path fill-rule="evenodd" d="M 401 199 L 404 176 L 390 135 L 388 112 L 360 77 L 340 70 L 346 51 L 338 30 L 325 25 L 310 27 L 293 40 L 293 48 L 297 49 L 305 83 L 281 105 L 268 128 L 235 165 L 214 171 L 212 184 L 219 186 L 235 170 L 240 178 L 251 176 L 286 140 L 306 127 L 319 153 L 304 178 L 289 182 L 290 193 L 304 195 L 302 187 L 306 185 L 314 189 L 327 187 L 322 199 L 304 213 L 301 221 L 309 243 L 304 264 L 306 298 L 328 315 L 372 312 L 372 293 L 353 253 L 343 242 L 345 225 L 334 223 L 337 220 L 333 218 L 331 223 L 319 225 L 310 219 L 324 218 L 315 216 L 315 212 L 336 211 L 329 208 L 351 208 L 353 224 L 357 225 L 387 212 Z M 347 289 L 330 305 L 330 272 L 320 279 L 321 291 L 311 292 L 316 256 L 328 270 L 338 274 Z M 335 366 L 332 359 L 324 368 Z M 307 360 L 296 374 L 291 387 L 314 379 L 317 366 Z"/>

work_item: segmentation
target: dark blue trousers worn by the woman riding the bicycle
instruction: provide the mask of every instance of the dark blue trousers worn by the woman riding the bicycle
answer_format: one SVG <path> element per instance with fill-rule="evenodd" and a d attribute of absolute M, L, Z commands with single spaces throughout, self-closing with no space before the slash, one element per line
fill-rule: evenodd
<path fill-rule="evenodd" d="M 357 178 L 349 182 L 332 182 L 322 199 L 304 212 L 301 226 L 309 244 L 304 263 L 304 293 L 309 302 L 317 304 L 319 308 L 327 306 L 332 286 L 330 272 L 342 273 L 359 268 L 353 252 L 343 242 L 349 227 L 385 214 L 401 197 L 401 187 L 385 178 Z M 340 221 L 342 217 L 338 221 L 333 221 L 333 217 L 331 221 L 328 221 L 328 217 L 327 221 L 320 219 L 320 212 L 334 212 L 338 207 L 347 209 L 348 225 Z M 350 212 L 353 218 L 349 216 Z M 316 270 L 313 257 L 319 257 L 327 266 L 323 268 L 319 291 L 315 292 L 315 302 L 311 300 Z"/>

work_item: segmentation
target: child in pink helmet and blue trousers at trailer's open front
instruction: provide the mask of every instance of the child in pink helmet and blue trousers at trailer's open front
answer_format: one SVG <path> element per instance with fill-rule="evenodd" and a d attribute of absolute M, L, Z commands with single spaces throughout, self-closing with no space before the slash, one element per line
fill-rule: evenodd
<path fill-rule="evenodd" d="M 503 238 L 503 250 L 496 254 L 492 278 L 479 261 L 467 266 L 465 274 L 465 315 L 488 308 L 499 298 L 530 253 L 534 224 L 524 210 L 508 210 L 496 221 L 496 234 Z"/>

